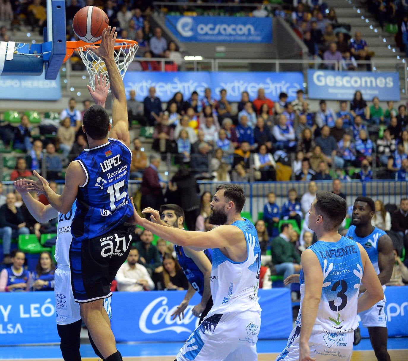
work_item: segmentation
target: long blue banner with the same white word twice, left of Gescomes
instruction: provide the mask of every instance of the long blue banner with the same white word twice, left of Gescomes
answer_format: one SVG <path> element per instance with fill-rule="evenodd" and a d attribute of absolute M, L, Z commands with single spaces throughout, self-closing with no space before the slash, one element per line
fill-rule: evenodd
<path fill-rule="evenodd" d="M 134 90 L 136 100 L 140 102 L 149 95 L 151 86 L 155 87 L 156 96 L 162 102 L 168 102 L 178 91 L 183 94 L 184 100 L 189 99 L 193 91 L 197 91 L 201 100 L 206 88 L 211 89 L 214 99 L 220 99 L 220 90 L 225 89 L 230 102 L 241 101 L 243 91 L 247 91 L 249 98 L 254 100 L 259 88 L 265 89 L 265 96 L 273 101 L 277 101 L 279 93 L 284 92 L 288 94 L 288 102 L 291 102 L 295 100 L 296 92 L 303 90 L 304 79 L 300 72 L 127 71 L 123 82 L 127 95 Z"/>

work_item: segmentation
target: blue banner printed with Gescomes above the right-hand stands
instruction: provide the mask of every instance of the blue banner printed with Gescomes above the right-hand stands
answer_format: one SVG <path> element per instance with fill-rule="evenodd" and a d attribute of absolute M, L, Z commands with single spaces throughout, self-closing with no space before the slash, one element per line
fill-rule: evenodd
<path fill-rule="evenodd" d="M 310 99 L 353 100 L 359 90 L 366 101 L 400 100 L 398 73 L 309 69 L 307 77 Z"/>

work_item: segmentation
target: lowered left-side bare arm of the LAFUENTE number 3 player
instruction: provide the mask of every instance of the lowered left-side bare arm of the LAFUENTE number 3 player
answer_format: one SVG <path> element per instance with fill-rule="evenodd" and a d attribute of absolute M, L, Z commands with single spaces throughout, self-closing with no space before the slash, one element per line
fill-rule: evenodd
<path fill-rule="evenodd" d="M 305 276 L 305 293 L 302 301 L 302 330 L 299 340 L 299 360 L 315 360 L 310 357 L 308 345 L 322 297 L 323 272 L 317 256 L 312 250 L 302 253 L 302 269 Z"/>

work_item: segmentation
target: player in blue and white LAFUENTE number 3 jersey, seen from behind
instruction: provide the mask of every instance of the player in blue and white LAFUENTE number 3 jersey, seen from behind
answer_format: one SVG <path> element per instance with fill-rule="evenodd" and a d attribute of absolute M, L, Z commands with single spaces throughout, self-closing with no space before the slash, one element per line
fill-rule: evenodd
<path fill-rule="evenodd" d="M 277 361 L 350 360 L 357 311 L 384 297 L 367 252 L 338 233 L 346 212 L 343 198 L 317 192 L 308 226 L 318 241 L 302 253 L 299 315 Z M 360 283 L 367 291 L 358 299 Z"/>

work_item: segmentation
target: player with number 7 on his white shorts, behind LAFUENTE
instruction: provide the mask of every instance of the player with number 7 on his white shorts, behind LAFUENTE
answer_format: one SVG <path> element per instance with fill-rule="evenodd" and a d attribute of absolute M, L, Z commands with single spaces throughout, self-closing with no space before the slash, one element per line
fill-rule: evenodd
<path fill-rule="evenodd" d="M 394 267 L 394 252 L 392 240 L 384 230 L 371 225 L 371 218 L 375 215 L 373 199 L 357 197 L 353 205 L 351 215 L 352 226 L 344 230 L 346 237 L 353 239 L 363 246 L 370 257 L 383 290 L 385 284 L 390 281 Z M 361 286 L 360 293 L 363 295 L 366 289 Z M 385 297 L 365 312 L 360 313 L 361 324 L 368 328 L 371 345 L 378 361 L 389 361 L 387 351 L 387 314 Z"/>

